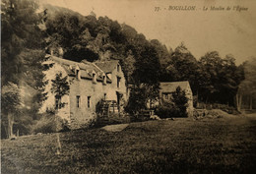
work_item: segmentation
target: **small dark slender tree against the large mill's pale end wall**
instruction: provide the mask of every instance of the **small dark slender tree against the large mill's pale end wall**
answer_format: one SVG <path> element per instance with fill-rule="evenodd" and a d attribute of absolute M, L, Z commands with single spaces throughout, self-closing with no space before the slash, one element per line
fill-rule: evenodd
<path fill-rule="evenodd" d="M 62 96 L 69 94 L 69 83 L 67 81 L 68 77 L 62 78 L 62 73 L 56 74 L 55 80 L 51 80 L 52 87 L 51 92 L 55 94 L 56 98 L 56 110 L 64 107 L 65 103 L 61 102 Z"/>

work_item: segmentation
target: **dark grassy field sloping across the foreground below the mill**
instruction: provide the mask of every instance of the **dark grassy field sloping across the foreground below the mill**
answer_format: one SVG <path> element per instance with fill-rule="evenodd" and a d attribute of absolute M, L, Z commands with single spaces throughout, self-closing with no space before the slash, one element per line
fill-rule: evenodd
<path fill-rule="evenodd" d="M 4 140 L 2 173 L 254 173 L 256 115 L 131 123 Z M 254 172 L 253 172 L 254 170 Z"/>

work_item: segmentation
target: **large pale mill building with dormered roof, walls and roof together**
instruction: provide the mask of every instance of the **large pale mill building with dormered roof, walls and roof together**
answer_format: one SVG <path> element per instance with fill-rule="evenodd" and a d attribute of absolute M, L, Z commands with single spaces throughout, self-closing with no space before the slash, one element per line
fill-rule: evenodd
<path fill-rule="evenodd" d="M 41 112 L 57 110 L 57 114 L 67 120 L 72 129 L 90 124 L 96 119 L 96 104 L 100 100 L 113 100 L 122 110 L 122 102 L 127 98 L 124 74 L 117 60 L 91 63 L 74 62 L 50 55 L 45 64 L 53 66 L 45 72 L 49 82 L 45 90 L 47 99 Z M 68 77 L 69 94 L 61 97 L 63 107 L 58 109 L 58 102 L 51 91 L 52 82 L 57 74 Z"/>

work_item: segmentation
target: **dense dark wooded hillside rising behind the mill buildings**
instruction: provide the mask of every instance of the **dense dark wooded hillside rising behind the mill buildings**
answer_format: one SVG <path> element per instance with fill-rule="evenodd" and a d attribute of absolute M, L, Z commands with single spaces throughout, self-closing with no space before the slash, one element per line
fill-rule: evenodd
<path fill-rule="evenodd" d="M 75 61 L 120 60 L 127 82 L 134 85 L 131 100 L 137 106 L 140 102 L 140 108 L 150 98 L 145 93 L 137 102 L 137 91 L 152 88 L 148 91 L 156 98 L 158 92 L 153 91 L 158 91 L 160 81 L 189 81 L 200 102 L 235 105 L 235 94 L 244 77 L 232 55 L 222 58 L 212 51 L 198 61 L 183 42 L 168 50 L 159 40 L 147 40 L 136 29 L 107 17 L 96 18 L 94 13 L 83 17 L 70 10 L 47 8 L 49 49 L 58 54 L 61 47 L 63 57 Z"/>

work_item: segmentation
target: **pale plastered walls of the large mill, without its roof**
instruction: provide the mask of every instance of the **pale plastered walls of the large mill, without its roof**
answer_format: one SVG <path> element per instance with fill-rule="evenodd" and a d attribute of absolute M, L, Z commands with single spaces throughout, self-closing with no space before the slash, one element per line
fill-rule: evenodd
<path fill-rule="evenodd" d="M 52 62 L 53 63 L 53 62 Z M 55 107 L 55 97 L 50 91 L 51 80 L 55 79 L 56 74 L 62 73 L 63 77 L 67 76 L 66 71 L 61 65 L 55 63 L 52 68 L 45 72 L 45 80 L 48 80 L 48 85 L 45 87 L 47 91 L 47 100 L 44 101 L 40 109 L 41 112 L 45 112 L 47 108 Z M 117 87 L 117 76 L 121 77 L 120 87 Z M 123 93 L 124 99 L 126 97 L 125 79 L 122 71 L 117 72 L 116 69 L 111 75 L 112 83 L 103 85 L 102 82 L 93 83 L 88 79 L 77 79 L 76 77 L 69 76 L 70 93 L 62 98 L 62 102 L 66 105 L 64 108 L 59 109 L 58 115 L 70 122 L 70 126 L 73 129 L 86 126 L 94 119 L 96 119 L 96 103 L 103 99 L 104 93 L 106 93 L 107 100 L 117 100 L 116 91 Z M 80 96 L 79 107 L 77 106 L 77 95 Z M 88 107 L 88 96 L 91 96 L 90 108 Z"/>

